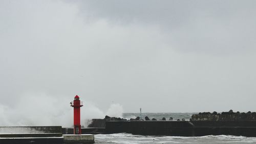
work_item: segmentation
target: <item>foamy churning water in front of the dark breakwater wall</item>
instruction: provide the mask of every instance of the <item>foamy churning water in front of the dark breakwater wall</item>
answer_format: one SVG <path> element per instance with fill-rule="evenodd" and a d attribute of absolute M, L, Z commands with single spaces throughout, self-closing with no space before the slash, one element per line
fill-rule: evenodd
<path fill-rule="evenodd" d="M 98 134 L 95 135 L 96 141 L 105 141 L 106 143 L 255 143 L 256 137 L 244 137 L 233 135 L 207 135 L 199 137 L 185 136 L 143 136 L 128 133 L 117 134 Z M 97 142 L 96 142 L 97 143 Z M 100 143 L 100 142 L 99 142 Z"/>

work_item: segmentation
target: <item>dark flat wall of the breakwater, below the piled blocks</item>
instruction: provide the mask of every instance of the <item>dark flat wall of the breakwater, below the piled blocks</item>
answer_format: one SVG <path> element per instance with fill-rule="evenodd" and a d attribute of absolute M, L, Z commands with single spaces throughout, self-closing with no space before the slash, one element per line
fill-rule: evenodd
<path fill-rule="evenodd" d="M 210 122 L 201 126 L 194 121 L 106 121 L 105 133 L 131 133 L 138 135 L 169 135 L 169 136 L 205 136 L 205 135 L 236 135 L 256 136 L 256 127 L 215 126 Z M 254 122 L 254 125 L 256 122 Z"/>

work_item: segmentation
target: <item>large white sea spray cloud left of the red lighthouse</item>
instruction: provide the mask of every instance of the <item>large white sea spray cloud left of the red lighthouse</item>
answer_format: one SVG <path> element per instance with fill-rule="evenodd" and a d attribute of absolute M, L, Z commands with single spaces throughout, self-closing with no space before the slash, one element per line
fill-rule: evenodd
<path fill-rule="evenodd" d="M 44 93 L 26 93 L 6 106 L 1 126 L 72 126 L 72 109 L 67 98 Z M 3 104 L 0 104 L 3 106 Z"/>

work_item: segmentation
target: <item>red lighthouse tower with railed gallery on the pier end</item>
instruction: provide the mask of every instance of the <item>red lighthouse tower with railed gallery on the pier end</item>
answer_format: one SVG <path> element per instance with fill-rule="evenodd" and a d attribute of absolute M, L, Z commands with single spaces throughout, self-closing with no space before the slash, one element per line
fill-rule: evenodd
<path fill-rule="evenodd" d="M 70 104 L 71 107 L 74 107 L 74 134 L 81 134 L 80 107 L 83 106 L 82 101 L 76 95 L 74 101 L 71 101 Z"/>

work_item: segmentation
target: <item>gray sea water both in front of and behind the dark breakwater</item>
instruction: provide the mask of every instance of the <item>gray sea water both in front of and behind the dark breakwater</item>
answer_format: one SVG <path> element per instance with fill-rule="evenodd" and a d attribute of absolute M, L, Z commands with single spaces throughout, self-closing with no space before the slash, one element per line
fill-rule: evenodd
<path fill-rule="evenodd" d="M 189 120 L 192 114 L 196 113 L 123 113 L 123 118 L 130 119 L 140 116 L 144 119 L 145 116 L 149 118 L 162 119 L 163 117 L 168 120 L 170 117 L 173 120 L 185 118 Z M 142 136 L 133 135 L 128 133 L 117 134 L 97 134 L 95 135 L 95 143 L 107 144 L 147 144 L 147 143 L 256 143 L 256 137 L 244 137 L 233 135 L 207 135 L 199 137 L 184 137 L 184 136 Z"/>

